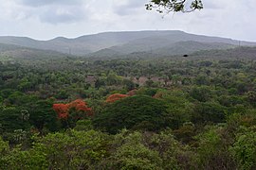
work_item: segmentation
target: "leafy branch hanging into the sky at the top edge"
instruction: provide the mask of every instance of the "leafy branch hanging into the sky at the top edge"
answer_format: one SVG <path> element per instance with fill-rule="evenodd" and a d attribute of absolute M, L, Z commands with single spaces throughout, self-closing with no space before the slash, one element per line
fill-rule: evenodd
<path fill-rule="evenodd" d="M 190 12 L 196 9 L 202 9 L 201 0 L 151 0 L 146 4 L 146 9 L 152 10 L 156 8 L 159 13 L 169 12 Z"/>

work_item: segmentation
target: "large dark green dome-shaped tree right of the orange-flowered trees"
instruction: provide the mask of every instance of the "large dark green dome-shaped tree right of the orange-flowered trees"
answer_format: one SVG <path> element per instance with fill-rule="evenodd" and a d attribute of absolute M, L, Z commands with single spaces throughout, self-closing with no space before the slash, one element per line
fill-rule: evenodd
<path fill-rule="evenodd" d="M 166 105 L 163 101 L 146 95 L 123 98 L 106 106 L 96 115 L 94 124 L 110 133 L 121 128 L 158 130 L 164 126 Z"/>

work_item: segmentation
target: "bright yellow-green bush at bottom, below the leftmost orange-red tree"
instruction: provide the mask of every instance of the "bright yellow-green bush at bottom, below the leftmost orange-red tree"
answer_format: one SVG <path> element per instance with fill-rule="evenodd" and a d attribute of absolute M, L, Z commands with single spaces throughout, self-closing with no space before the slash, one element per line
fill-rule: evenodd
<path fill-rule="evenodd" d="M 107 136 L 94 130 L 70 130 L 47 135 L 37 147 L 43 147 L 50 169 L 90 169 L 106 156 Z"/>

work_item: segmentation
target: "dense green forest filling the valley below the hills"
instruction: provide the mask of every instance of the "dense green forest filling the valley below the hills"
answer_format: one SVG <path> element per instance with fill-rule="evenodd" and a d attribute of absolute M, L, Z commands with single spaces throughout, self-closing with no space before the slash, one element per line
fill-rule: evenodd
<path fill-rule="evenodd" d="M 219 53 L 1 56 L 0 169 L 256 169 L 256 60 Z"/>

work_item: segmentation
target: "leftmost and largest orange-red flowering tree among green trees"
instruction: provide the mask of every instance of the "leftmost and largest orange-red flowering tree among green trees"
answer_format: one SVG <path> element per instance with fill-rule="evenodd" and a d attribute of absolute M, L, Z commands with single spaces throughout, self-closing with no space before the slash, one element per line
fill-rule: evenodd
<path fill-rule="evenodd" d="M 78 120 L 93 115 L 92 109 L 82 99 L 77 99 L 67 104 L 53 104 L 53 110 L 58 114 L 65 127 L 73 127 Z"/>

